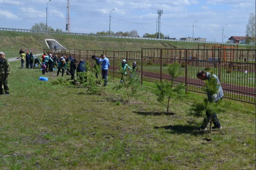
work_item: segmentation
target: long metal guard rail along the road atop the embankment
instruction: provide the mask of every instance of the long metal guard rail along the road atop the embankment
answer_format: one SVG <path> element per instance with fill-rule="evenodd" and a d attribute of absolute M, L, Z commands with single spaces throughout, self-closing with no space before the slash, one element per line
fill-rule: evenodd
<path fill-rule="evenodd" d="M 190 40 L 173 40 L 173 39 L 166 39 L 166 38 L 148 38 L 148 37 L 132 37 L 132 36 L 109 36 L 109 35 L 98 35 L 98 34 L 87 34 L 87 33 L 76 33 L 76 32 L 38 31 L 38 30 L 20 29 L 20 28 L 0 28 L 0 31 L 31 32 L 31 33 L 43 33 L 43 34 L 61 34 L 61 35 L 77 35 L 77 36 L 98 36 L 98 37 L 129 38 L 129 39 L 141 39 L 141 40 L 164 40 L 164 41 L 180 41 L 180 42 L 216 43 L 216 44 L 236 45 L 236 44 L 233 44 L 233 43 L 220 43 L 220 42 L 213 42 L 213 41 L 190 41 Z M 239 44 L 239 45 L 250 45 L 250 44 Z"/>

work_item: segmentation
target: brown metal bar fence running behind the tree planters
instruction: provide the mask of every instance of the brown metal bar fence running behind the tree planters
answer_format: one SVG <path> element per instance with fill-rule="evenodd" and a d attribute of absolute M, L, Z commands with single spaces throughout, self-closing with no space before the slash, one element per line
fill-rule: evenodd
<path fill-rule="evenodd" d="M 255 100 L 255 50 L 238 49 L 142 49 L 142 51 L 104 50 L 54 50 L 44 49 L 58 55 L 90 61 L 91 56 L 105 54 L 110 61 L 109 76 L 121 78 L 119 64 L 126 59 L 129 66 L 136 61 L 143 81 L 161 82 L 170 80 L 168 64 L 180 63 L 180 76 L 176 82 L 184 82 L 186 91 L 206 93 L 203 81 L 197 79 L 199 70 L 213 70 L 219 77 L 224 97 L 256 104 Z"/>

